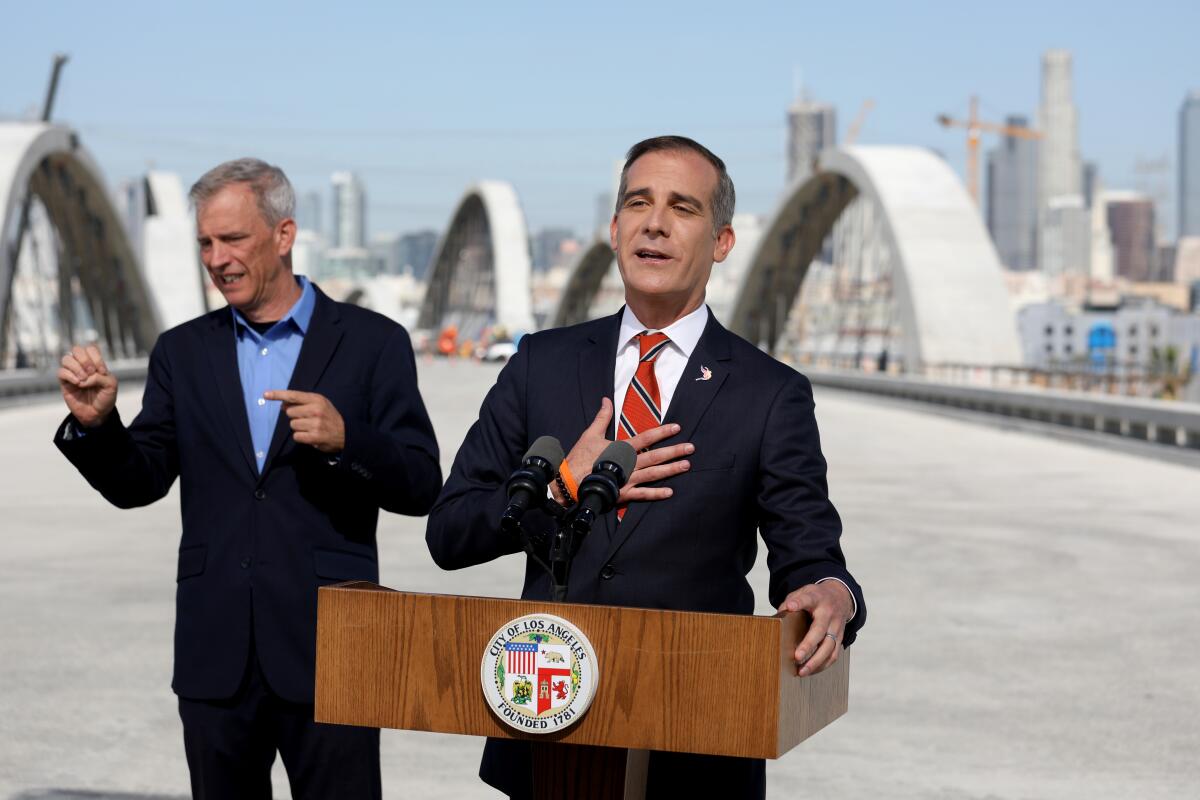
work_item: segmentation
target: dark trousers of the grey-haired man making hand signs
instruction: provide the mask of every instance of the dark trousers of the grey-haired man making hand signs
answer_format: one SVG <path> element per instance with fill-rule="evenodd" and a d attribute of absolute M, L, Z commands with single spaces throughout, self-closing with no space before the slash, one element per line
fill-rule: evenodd
<path fill-rule="evenodd" d="M 311 704 L 271 692 L 254 652 L 236 694 L 180 697 L 179 716 L 196 800 L 270 800 L 276 751 L 294 800 L 382 795 L 379 730 L 313 722 Z"/>

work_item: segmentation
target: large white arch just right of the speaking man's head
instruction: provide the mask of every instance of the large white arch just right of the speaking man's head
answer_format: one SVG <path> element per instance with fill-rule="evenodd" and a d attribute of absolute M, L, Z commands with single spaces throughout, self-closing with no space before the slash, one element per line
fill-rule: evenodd
<path fill-rule="evenodd" d="M 821 154 L 815 175 L 785 194 L 760 241 L 731 327 L 778 337 L 772 309 L 791 308 L 809 264 L 841 211 L 862 193 L 878 204 L 898 255 L 894 294 L 912 365 L 1019 363 L 1016 321 L 1000 259 L 961 181 L 932 152 L 853 146 Z"/>

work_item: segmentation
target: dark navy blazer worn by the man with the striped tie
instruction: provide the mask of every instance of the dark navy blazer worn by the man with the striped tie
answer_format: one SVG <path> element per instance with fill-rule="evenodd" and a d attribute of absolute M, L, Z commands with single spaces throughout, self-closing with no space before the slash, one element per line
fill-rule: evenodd
<path fill-rule="evenodd" d="M 600 399 L 613 396 L 619 327 L 618 313 L 521 341 L 430 513 L 426 541 L 439 566 L 460 569 L 520 551 L 497 527 L 504 483 L 534 439 L 553 435 L 570 449 Z M 709 380 L 697 380 L 701 367 L 712 371 Z M 746 573 L 761 534 L 772 604 L 808 583 L 840 578 L 858 602 L 845 636 L 851 644 L 866 606 L 842 558 L 841 521 L 829 501 L 812 409 L 808 379 L 709 314 L 664 417 L 682 427 L 664 445 L 695 444 L 691 470 L 664 483 L 674 491 L 670 499 L 630 505 L 619 525 L 612 513 L 596 523 L 571 567 L 568 600 L 752 613 Z M 527 513 L 524 524 L 551 527 L 540 511 Z M 550 597 L 548 578 L 532 563 L 521 596 Z M 528 775 L 527 766 L 515 766 L 520 758 L 510 745 L 490 741 L 481 775 L 520 796 L 527 788 L 515 778 Z"/>

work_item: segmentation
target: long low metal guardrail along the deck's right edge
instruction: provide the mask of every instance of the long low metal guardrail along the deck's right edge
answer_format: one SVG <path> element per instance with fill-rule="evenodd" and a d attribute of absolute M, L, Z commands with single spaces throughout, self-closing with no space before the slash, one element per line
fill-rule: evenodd
<path fill-rule="evenodd" d="M 1200 404 L 803 368 L 816 385 L 1200 450 Z"/>

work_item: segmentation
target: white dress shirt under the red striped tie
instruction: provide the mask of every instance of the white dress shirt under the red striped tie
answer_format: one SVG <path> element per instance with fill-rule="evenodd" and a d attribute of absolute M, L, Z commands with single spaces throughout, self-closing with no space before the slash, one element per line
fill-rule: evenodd
<path fill-rule="evenodd" d="M 686 317 L 680 317 L 662 329 L 650 329 L 642 325 L 634 312 L 629 309 L 629 306 L 625 306 L 625 311 L 620 315 L 620 332 L 617 336 L 617 365 L 612 378 L 614 392 L 612 401 L 616 413 L 612 421 L 613 428 L 610 433 L 613 439 L 617 438 L 617 420 L 620 419 L 620 407 L 625 402 L 625 392 L 629 391 L 629 384 L 632 383 L 634 375 L 637 373 L 637 362 L 641 360 L 637 335 L 643 331 L 655 333 L 661 330 L 661 332 L 671 338 L 671 344 L 654 361 L 654 378 L 659 381 L 659 408 L 662 409 L 662 419 L 665 420 L 671 409 L 671 399 L 674 397 L 679 380 L 683 378 L 683 371 L 688 366 L 691 353 L 696 349 L 696 344 L 700 342 L 700 337 L 704 332 L 707 324 L 708 306 L 703 303 Z M 700 378 L 698 374 L 696 377 Z M 826 581 L 836 581 L 846 587 L 845 581 L 833 576 L 821 578 L 817 583 L 824 583 Z M 846 620 L 848 622 L 858 615 L 858 600 L 854 597 L 854 593 L 850 591 L 850 587 L 846 587 L 846 591 L 850 594 L 850 602 L 853 603 L 854 608 L 850 619 Z"/>

